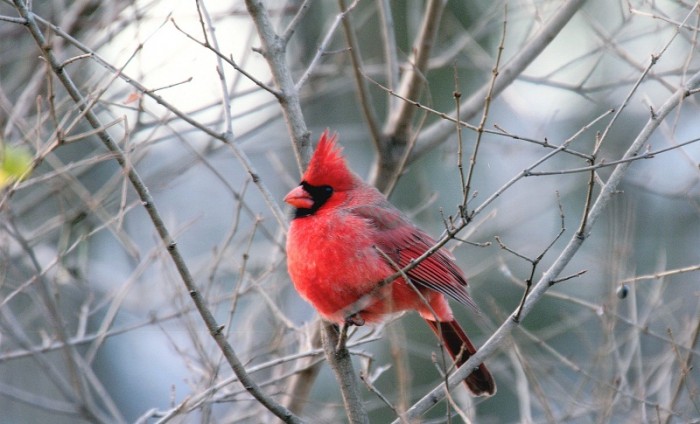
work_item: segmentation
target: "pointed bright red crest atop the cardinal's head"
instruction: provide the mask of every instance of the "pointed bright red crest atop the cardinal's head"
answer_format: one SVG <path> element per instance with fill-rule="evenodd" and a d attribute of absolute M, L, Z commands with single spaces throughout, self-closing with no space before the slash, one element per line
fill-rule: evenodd
<path fill-rule="evenodd" d="M 315 186 L 329 185 L 334 190 L 354 186 L 355 175 L 348 168 L 342 147 L 336 144 L 337 135 L 325 130 L 318 140 L 316 151 L 304 173 L 304 181 Z"/>

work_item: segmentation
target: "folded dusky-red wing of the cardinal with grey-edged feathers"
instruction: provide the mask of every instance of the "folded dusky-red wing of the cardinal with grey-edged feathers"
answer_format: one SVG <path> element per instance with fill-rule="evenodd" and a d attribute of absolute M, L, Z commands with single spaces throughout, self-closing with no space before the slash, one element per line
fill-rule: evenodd
<path fill-rule="evenodd" d="M 404 268 L 420 257 L 435 240 L 415 225 L 388 201 L 385 207 L 358 206 L 352 212 L 369 220 L 378 231 L 377 247 Z M 407 273 L 414 283 L 447 295 L 459 303 L 477 309 L 466 290 L 467 280 L 454 262 L 452 254 L 440 249 Z"/>

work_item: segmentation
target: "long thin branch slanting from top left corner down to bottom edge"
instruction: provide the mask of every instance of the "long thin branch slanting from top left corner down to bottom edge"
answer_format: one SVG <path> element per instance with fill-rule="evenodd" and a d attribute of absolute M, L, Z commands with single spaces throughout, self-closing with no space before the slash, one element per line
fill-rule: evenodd
<path fill-rule="evenodd" d="M 51 66 L 52 71 L 59 79 L 63 87 L 66 89 L 68 95 L 73 99 L 81 112 L 84 113 L 85 120 L 94 129 L 103 128 L 104 125 L 98 118 L 97 114 L 87 107 L 88 102 L 83 97 L 82 93 L 75 85 L 74 81 L 69 76 L 67 70 L 62 66 L 61 62 L 57 59 L 54 52 L 51 49 L 51 45 L 47 42 L 44 37 L 43 32 L 39 28 L 39 25 L 35 19 L 34 14 L 27 8 L 26 3 L 23 0 L 14 0 L 14 5 L 17 8 L 20 16 L 26 20 L 25 26 L 34 38 L 37 46 L 41 50 L 42 56 Z M 254 396 L 262 405 L 269 409 L 272 413 L 277 415 L 284 422 L 298 423 L 301 420 L 294 415 L 287 408 L 283 407 L 275 400 L 267 396 L 264 392 L 260 390 L 258 385 L 253 381 L 247 374 L 245 367 L 238 359 L 235 351 L 226 340 L 225 334 L 222 331 L 221 326 L 216 322 L 216 319 L 212 315 L 211 311 L 208 309 L 205 300 L 201 297 L 198 291 L 192 274 L 187 267 L 184 258 L 180 254 L 177 247 L 177 243 L 170 235 L 165 222 L 161 217 L 156 205 L 154 203 L 153 197 L 151 196 L 148 188 L 144 184 L 143 180 L 136 172 L 136 170 L 129 164 L 128 159 L 121 150 L 121 147 L 116 143 L 116 141 L 110 136 L 106 131 L 98 131 L 96 134 L 105 147 L 114 154 L 115 160 L 119 163 L 119 166 L 124 170 L 127 178 L 131 182 L 132 187 L 141 199 L 149 218 L 151 219 L 161 241 L 163 242 L 163 247 L 167 249 L 170 257 L 177 268 L 177 271 L 185 284 L 188 292 L 190 293 L 192 300 L 202 317 L 204 323 L 209 330 L 209 333 L 216 341 L 217 345 L 221 349 L 224 357 L 228 361 L 229 365 L 233 371 L 238 376 L 241 384 Z"/>

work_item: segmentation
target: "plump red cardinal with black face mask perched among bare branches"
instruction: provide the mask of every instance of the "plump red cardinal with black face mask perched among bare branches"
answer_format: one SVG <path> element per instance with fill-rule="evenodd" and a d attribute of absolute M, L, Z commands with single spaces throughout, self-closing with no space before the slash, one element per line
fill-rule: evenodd
<path fill-rule="evenodd" d="M 362 325 L 415 310 L 457 366 L 476 352 L 445 299 L 475 306 L 450 252 L 440 249 L 408 271 L 413 286 L 402 277 L 381 285 L 435 240 L 348 169 L 335 135 L 321 135 L 301 184 L 284 201 L 296 208 L 287 234 L 289 275 L 323 318 Z M 496 391 L 484 364 L 465 382 L 476 395 Z"/>

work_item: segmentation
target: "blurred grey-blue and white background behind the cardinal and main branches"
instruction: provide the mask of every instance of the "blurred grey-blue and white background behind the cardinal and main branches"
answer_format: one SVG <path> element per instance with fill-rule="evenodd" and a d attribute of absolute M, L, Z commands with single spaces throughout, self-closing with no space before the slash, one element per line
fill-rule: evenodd
<path fill-rule="evenodd" d="M 283 105 L 261 88 L 276 85 L 246 3 L 33 2 L 51 52 L 126 168 L 42 59 L 15 3 L 0 2 L 0 142 L 3 170 L 19 157 L 31 173 L 10 172 L 0 191 L 0 422 L 273 420 L 197 314 L 131 168 L 251 377 L 278 401 L 299 402 L 309 422 L 344 421 L 325 364 L 308 396 L 290 391 L 323 354 L 311 340 L 316 314 L 286 272 L 282 198 L 299 182 L 298 144 Z M 678 1 L 358 1 L 347 15 L 358 77 L 339 18 L 350 2 L 265 2 L 279 34 L 293 25 L 283 57 L 294 81 L 311 71 L 297 93 L 311 140 L 338 132 L 351 167 L 380 186 L 363 110 L 371 105 L 388 128 L 402 100 L 386 87 L 398 91 L 392 77 L 412 69 L 434 3 L 441 14 L 414 99 L 425 108 L 409 119 L 416 144 L 390 199 L 436 238 L 459 214 L 458 158 L 467 168 L 479 136 L 464 129 L 460 148 L 455 125 L 444 130 L 445 117 L 426 108 L 455 116 L 453 93 L 464 100 L 490 86 L 499 46 L 500 70 L 573 10 L 524 70 L 499 74 L 512 81 L 488 101 L 468 203 L 478 213 L 458 236 L 466 242 L 449 244 L 480 311 L 453 306 L 481 345 L 516 310 L 525 281 L 575 237 L 591 172 L 567 171 L 589 166 L 597 141 L 596 164 L 619 160 L 699 71 L 700 12 Z M 477 104 L 465 117 L 472 126 L 483 96 Z M 650 154 L 630 165 L 560 278 L 583 273 L 554 285 L 489 357 L 497 394 L 475 399 L 459 387 L 424 422 L 700 420 L 699 113 L 696 87 L 645 140 Z M 596 170 L 594 198 L 612 169 Z M 350 339 L 357 372 L 391 404 L 361 384 L 371 422 L 396 419 L 443 381 L 437 340 L 419 321 L 405 314 Z"/>

